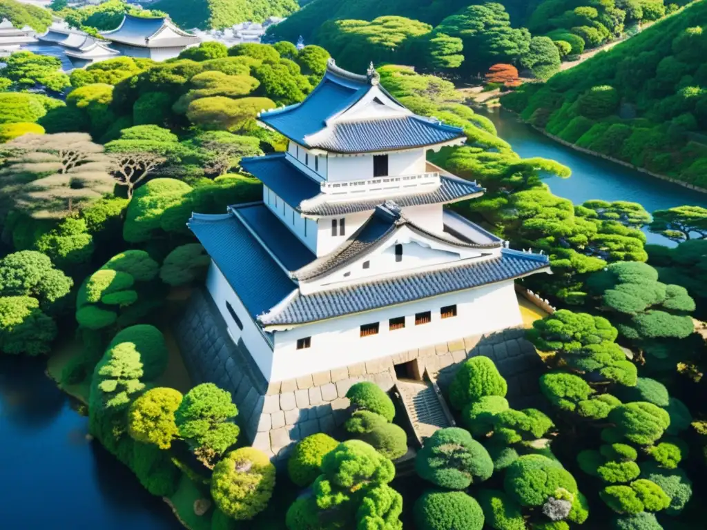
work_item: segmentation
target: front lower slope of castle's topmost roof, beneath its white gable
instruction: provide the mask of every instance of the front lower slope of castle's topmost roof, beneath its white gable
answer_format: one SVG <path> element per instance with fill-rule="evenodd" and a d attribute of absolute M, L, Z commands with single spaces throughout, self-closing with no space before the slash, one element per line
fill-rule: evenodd
<path fill-rule="evenodd" d="M 334 153 L 370 153 L 431 146 L 464 137 L 464 131 L 421 116 L 339 122 L 305 139 Z"/>

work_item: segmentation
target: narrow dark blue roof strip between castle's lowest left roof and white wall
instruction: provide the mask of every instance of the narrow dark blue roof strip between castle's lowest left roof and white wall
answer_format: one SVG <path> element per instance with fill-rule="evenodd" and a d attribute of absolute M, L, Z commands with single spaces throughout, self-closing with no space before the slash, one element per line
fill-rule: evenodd
<path fill-rule="evenodd" d="M 245 221 L 248 228 L 255 232 L 288 271 L 296 271 L 317 259 L 317 256 L 262 202 L 232 206 L 231 209 Z"/>

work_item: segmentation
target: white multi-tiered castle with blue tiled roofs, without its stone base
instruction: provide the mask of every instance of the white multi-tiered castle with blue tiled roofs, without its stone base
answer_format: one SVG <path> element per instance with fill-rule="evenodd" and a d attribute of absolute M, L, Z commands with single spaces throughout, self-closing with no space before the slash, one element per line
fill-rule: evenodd
<path fill-rule="evenodd" d="M 228 334 L 266 382 L 334 382 L 340 367 L 522 323 L 513 281 L 549 261 L 445 208 L 484 193 L 426 160 L 462 129 L 408 110 L 373 65 L 332 59 L 308 98 L 258 119 L 289 140 L 241 161 L 262 201 L 194 213 L 189 228 Z"/>

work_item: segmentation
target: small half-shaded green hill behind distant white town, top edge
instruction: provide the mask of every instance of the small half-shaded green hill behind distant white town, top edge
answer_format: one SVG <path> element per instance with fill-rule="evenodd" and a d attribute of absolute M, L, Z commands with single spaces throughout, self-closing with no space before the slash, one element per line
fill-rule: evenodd
<path fill-rule="evenodd" d="M 182 28 L 210 30 L 288 16 L 299 6 L 296 0 L 159 0 L 151 8 L 165 11 Z"/>

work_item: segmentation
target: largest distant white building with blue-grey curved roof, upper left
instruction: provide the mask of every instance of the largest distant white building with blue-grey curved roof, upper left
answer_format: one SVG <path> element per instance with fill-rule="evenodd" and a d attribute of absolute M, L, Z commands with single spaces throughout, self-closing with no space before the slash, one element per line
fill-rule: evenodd
<path fill-rule="evenodd" d="M 104 31 L 100 35 L 122 55 L 155 61 L 177 57 L 182 50 L 201 42 L 201 38 L 181 30 L 169 17 L 125 15 L 115 30 Z"/>

